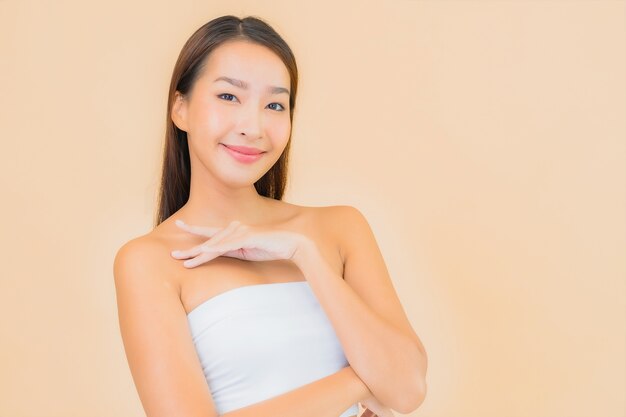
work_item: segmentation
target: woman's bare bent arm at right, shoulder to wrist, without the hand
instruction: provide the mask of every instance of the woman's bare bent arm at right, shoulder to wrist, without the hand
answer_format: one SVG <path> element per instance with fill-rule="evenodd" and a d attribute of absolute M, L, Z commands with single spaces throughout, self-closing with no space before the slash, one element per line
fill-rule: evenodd
<path fill-rule="evenodd" d="M 426 395 L 427 356 L 395 292 L 374 234 L 351 206 L 329 207 L 344 237 L 343 277 L 304 239 L 292 257 L 309 282 L 343 346 L 350 366 L 376 399 L 400 412 Z"/>

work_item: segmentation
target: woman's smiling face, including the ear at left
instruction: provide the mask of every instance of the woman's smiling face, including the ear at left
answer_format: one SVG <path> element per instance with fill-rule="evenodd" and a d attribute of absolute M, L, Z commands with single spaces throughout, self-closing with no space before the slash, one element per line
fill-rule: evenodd
<path fill-rule="evenodd" d="M 214 49 L 190 94 L 172 111 L 187 132 L 192 177 L 210 173 L 235 187 L 261 178 L 289 140 L 289 86 L 287 68 L 262 45 L 236 40 Z M 242 155 L 229 147 L 260 153 Z"/>

